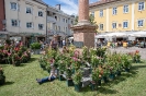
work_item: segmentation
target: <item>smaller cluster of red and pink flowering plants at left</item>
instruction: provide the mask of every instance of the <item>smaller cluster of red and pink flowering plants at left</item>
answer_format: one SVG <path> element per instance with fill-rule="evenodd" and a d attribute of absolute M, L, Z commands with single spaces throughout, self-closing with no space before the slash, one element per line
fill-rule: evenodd
<path fill-rule="evenodd" d="M 0 63 L 20 65 L 31 59 L 31 52 L 22 44 L 15 46 L 9 41 L 0 48 Z"/>

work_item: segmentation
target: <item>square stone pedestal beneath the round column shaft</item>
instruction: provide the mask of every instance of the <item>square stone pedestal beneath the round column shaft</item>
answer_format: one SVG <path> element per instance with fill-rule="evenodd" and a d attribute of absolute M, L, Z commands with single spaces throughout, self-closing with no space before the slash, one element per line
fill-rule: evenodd
<path fill-rule="evenodd" d="M 97 26 L 88 25 L 76 25 L 71 27 L 74 31 L 74 45 L 76 47 L 87 46 L 88 48 L 94 47 L 94 33 Z"/>

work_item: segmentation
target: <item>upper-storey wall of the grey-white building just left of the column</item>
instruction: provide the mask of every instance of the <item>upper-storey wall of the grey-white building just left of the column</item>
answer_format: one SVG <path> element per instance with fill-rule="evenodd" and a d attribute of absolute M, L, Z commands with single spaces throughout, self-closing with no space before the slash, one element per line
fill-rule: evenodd
<path fill-rule="evenodd" d="M 54 10 L 54 9 L 53 8 L 48 9 L 49 13 L 52 12 L 55 14 L 47 16 L 47 20 L 48 20 L 47 21 L 47 28 L 53 29 L 55 32 L 64 32 L 65 34 L 71 34 L 72 31 L 69 28 L 69 26 L 72 26 L 71 21 L 74 22 L 74 19 L 70 17 L 70 15 L 65 14 L 64 12 L 61 12 L 57 9 L 56 10 Z M 55 16 L 57 19 L 55 19 Z"/>

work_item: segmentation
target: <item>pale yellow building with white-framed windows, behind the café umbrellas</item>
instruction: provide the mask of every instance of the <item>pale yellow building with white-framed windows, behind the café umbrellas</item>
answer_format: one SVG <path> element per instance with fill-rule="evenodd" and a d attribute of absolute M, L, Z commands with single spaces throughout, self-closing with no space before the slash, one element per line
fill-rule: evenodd
<path fill-rule="evenodd" d="M 90 4 L 98 32 L 146 31 L 146 0 L 101 0 Z"/>

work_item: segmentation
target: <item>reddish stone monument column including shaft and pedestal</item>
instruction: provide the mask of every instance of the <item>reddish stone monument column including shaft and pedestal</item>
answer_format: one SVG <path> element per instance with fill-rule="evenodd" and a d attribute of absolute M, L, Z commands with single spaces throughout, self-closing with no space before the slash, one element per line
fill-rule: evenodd
<path fill-rule="evenodd" d="M 89 22 L 89 0 L 79 0 L 79 20 L 78 24 L 72 26 L 74 45 L 76 47 L 94 47 L 96 25 Z"/>

